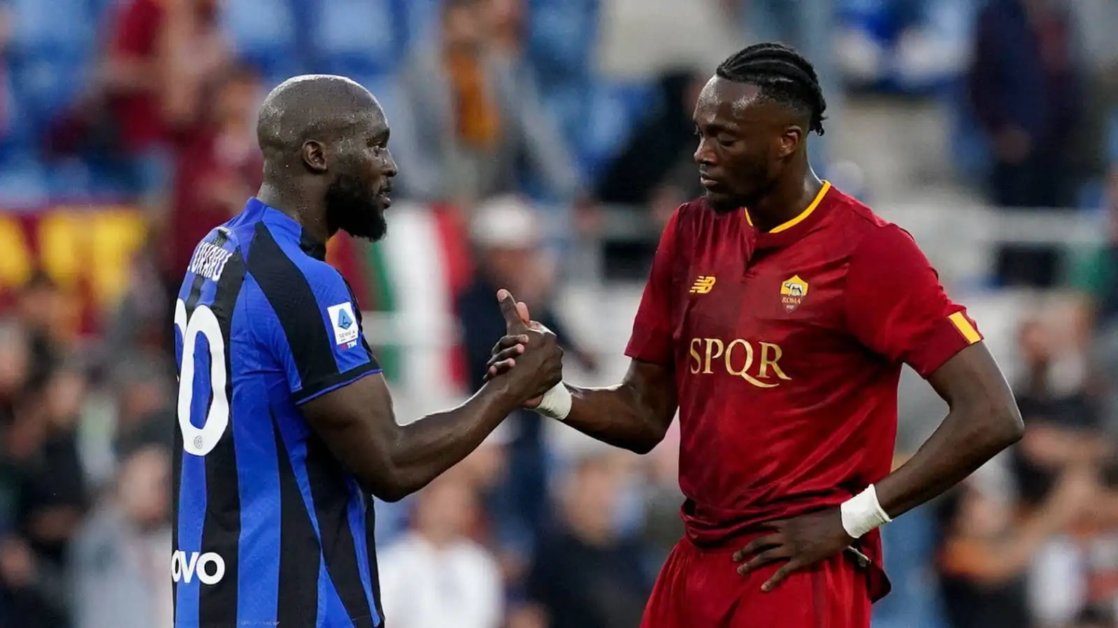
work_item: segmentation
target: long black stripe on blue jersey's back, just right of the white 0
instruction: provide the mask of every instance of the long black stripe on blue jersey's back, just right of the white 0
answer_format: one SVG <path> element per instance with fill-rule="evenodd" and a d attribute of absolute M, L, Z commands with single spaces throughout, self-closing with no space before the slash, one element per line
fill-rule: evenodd
<path fill-rule="evenodd" d="M 220 231 L 219 231 L 220 232 Z M 224 235 L 221 236 L 224 242 Z M 245 260 L 237 249 L 226 261 L 218 279 L 210 308 L 221 326 L 225 339 L 225 394 L 233 411 L 233 345 L 230 329 L 234 307 L 245 280 Z M 238 549 L 240 544 L 240 483 L 237 475 L 237 454 L 234 447 L 233 421 L 217 446 L 206 456 L 206 518 L 202 523 L 201 551 L 214 552 L 225 559 L 225 577 L 212 586 L 202 586 L 199 593 L 198 622 L 207 628 L 238 626 L 237 583 Z"/>

